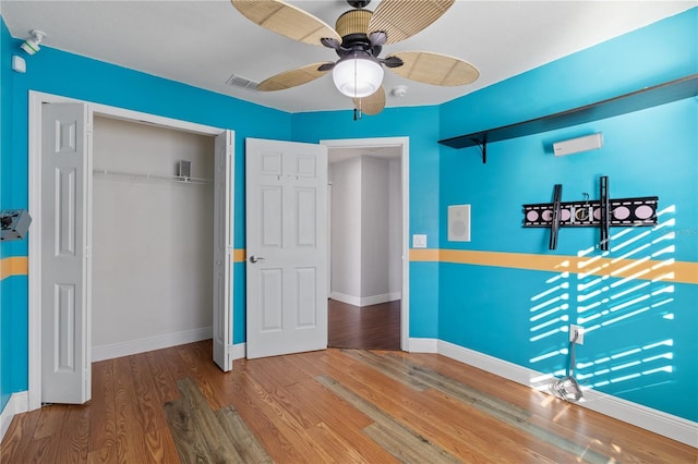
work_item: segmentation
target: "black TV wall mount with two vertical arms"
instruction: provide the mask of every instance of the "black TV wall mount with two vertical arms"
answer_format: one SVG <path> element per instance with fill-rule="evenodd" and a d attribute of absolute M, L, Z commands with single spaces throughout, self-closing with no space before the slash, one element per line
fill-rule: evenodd
<path fill-rule="evenodd" d="M 598 227 L 599 246 L 609 249 L 611 227 L 657 225 L 659 197 L 611 199 L 609 176 L 599 179 L 599 199 L 586 198 L 577 202 L 562 202 L 563 185 L 555 184 L 553 203 L 524 205 L 525 228 L 550 228 L 550 249 L 557 248 L 559 228 Z"/>

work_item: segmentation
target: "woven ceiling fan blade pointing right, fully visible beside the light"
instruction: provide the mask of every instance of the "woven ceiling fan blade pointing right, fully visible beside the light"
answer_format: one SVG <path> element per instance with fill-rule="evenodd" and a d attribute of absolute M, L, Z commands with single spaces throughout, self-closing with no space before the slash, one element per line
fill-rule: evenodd
<path fill-rule="evenodd" d="M 466 85 L 480 76 L 480 71 L 467 61 L 446 54 L 425 51 L 401 51 L 392 53 L 386 60 L 396 57 L 402 65 L 390 71 L 412 81 L 424 84 L 453 86 Z"/>

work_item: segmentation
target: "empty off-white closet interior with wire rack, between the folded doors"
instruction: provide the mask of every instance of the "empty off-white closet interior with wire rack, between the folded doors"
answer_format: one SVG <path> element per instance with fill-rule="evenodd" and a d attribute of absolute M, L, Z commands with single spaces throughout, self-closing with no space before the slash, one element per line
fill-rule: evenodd
<path fill-rule="evenodd" d="M 214 137 L 93 124 L 93 362 L 212 338 Z"/>

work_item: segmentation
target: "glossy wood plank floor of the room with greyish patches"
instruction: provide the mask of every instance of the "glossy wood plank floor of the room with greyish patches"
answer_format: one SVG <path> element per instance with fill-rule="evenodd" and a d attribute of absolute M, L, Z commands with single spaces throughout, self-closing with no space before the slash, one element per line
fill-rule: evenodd
<path fill-rule="evenodd" d="M 17 415 L 0 462 L 697 462 L 441 355 L 329 349 L 227 374 L 210 357 L 204 341 L 95 363 L 93 399 Z"/>

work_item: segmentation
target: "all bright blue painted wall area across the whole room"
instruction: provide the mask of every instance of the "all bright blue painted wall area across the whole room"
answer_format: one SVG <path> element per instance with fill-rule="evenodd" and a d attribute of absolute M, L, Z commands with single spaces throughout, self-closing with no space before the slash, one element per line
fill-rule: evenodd
<path fill-rule="evenodd" d="M 661 208 L 667 208 L 661 218 L 664 228 L 647 236 L 640 236 L 646 230 L 613 229 L 613 234 L 624 234 L 614 244 L 635 241 L 612 249 L 610 258 L 629 251 L 634 259 L 650 253 L 653 260 L 698 258 L 696 99 L 492 144 L 486 164 L 477 148 L 453 150 L 436 144 L 696 72 L 698 9 L 440 107 L 386 109 L 357 122 L 349 111 L 288 114 L 48 47 L 27 57 L 26 74 L 15 74 L 9 71 L 9 54 L 19 40 L 0 23 L 1 208 L 27 206 L 27 100 L 34 89 L 234 130 L 236 248 L 244 247 L 245 137 L 317 142 L 409 136 L 410 234 L 428 234 L 430 248 L 550 255 L 546 231 L 520 227 L 521 205 L 550 200 L 555 183 L 564 184 L 565 200 L 578 199 L 582 192 L 595 198 L 599 175 L 609 175 L 612 197 L 658 195 Z M 552 156 L 552 142 L 599 131 L 605 137 L 602 150 Z M 473 241 L 457 246 L 447 242 L 444 221 L 446 207 L 462 203 L 472 205 Z M 553 254 L 597 256 L 597 241 L 592 229 L 565 229 Z M 3 257 L 26 256 L 26 241 L 2 244 L 0 251 Z M 540 302 L 556 296 L 566 302 L 559 313 L 567 316 L 565 325 L 597 313 L 582 325 L 637 313 L 587 334 L 578 352 L 580 376 L 601 391 L 698 419 L 696 284 L 616 278 L 597 282 L 575 273 L 417 261 L 410 264 L 410 337 L 440 338 L 542 371 L 564 368 L 566 344 L 562 332 L 538 338 L 543 329 L 537 326 L 547 320 L 537 319 Z M 649 284 L 640 286 L 645 282 Z M 1 289 L 0 408 L 10 393 L 27 388 L 26 277 L 3 279 Z M 590 296 L 595 290 L 601 296 Z M 595 303 L 599 306 L 578 313 Z M 611 310 L 618 306 L 623 308 Z M 243 262 L 234 265 L 233 319 L 233 341 L 243 342 Z"/>

